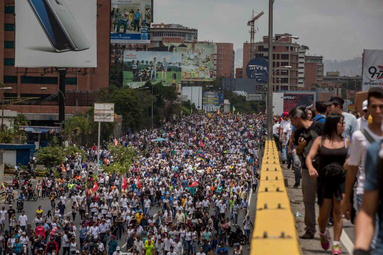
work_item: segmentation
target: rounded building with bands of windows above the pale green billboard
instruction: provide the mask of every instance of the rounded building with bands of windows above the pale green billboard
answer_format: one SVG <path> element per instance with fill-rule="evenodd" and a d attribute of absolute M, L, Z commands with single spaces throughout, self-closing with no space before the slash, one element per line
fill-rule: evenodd
<path fill-rule="evenodd" d="M 180 24 L 152 24 L 149 47 L 163 47 L 162 42 L 197 42 L 198 30 Z"/>

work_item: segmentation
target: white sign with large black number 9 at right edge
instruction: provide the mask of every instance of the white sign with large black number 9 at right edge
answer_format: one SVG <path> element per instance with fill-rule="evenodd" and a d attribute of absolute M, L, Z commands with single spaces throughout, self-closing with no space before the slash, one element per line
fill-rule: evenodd
<path fill-rule="evenodd" d="M 383 50 L 364 50 L 362 91 L 383 86 Z"/>

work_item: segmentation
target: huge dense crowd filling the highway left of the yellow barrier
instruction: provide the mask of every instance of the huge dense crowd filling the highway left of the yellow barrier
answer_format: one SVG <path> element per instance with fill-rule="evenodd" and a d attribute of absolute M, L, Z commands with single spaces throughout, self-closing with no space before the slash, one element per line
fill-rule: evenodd
<path fill-rule="evenodd" d="M 113 140 L 136 151 L 124 173 L 103 170 L 114 162 L 105 147 L 81 146 L 86 158 L 70 155 L 59 177 L 51 171 L 37 181 L 38 201 L 51 208 L 38 206 L 29 220 L 2 207 L 0 253 L 227 255 L 233 225 L 250 239 L 264 127 L 261 114 L 192 115 L 128 132 Z"/>

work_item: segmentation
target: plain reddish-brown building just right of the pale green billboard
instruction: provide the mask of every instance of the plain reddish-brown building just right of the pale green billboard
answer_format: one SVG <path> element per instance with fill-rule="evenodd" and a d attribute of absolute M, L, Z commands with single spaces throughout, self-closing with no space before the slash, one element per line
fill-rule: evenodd
<path fill-rule="evenodd" d="M 234 78 L 234 56 L 232 43 L 216 42 L 217 77 Z"/>

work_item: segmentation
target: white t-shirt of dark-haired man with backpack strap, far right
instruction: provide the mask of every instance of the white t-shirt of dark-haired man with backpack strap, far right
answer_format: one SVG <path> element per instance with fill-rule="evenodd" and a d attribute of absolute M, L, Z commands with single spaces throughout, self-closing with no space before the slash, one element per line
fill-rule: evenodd
<path fill-rule="evenodd" d="M 365 128 L 369 134 L 375 139 L 380 140 L 382 136 L 376 135 L 373 133 L 370 128 Z M 366 160 L 366 149 L 370 145 L 370 142 L 367 140 L 366 136 L 362 133 L 361 130 L 357 130 L 353 133 L 350 143 L 350 158 L 349 165 L 359 166 L 358 171 L 358 185 L 356 192 L 358 195 L 364 193 L 365 186 L 365 160 Z"/>

